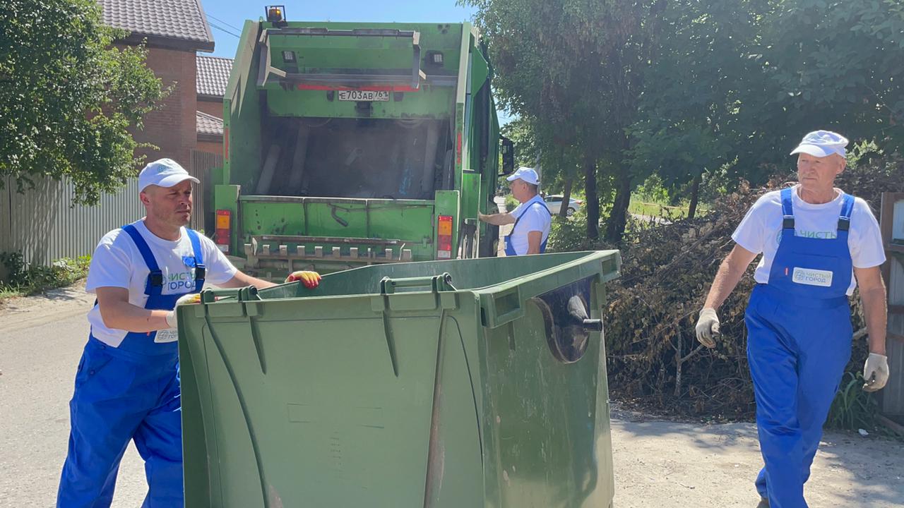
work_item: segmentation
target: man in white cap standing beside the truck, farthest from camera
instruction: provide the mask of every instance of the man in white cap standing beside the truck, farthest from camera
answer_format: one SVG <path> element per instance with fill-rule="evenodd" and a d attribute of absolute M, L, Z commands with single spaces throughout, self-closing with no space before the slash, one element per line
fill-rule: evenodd
<path fill-rule="evenodd" d="M 512 231 L 504 239 L 506 256 L 546 252 L 552 214 L 546 202 L 543 202 L 543 198 L 537 193 L 540 176 L 530 167 L 519 167 L 506 180 L 509 181 L 514 199 L 521 204 L 512 212 L 489 215 L 478 212 L 477 218 L 496 226 L 514 224 Z"/>

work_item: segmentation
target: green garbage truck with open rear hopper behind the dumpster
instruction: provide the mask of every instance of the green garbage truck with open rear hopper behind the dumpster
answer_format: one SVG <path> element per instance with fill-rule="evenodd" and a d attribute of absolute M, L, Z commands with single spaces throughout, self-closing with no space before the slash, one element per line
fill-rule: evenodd
<path fill-rule="evenodd" d="M 476 28 L 266 12 L 223 99 L 205 217 L 220 249 L 260 274 L 494 256 L 477 212 L 514 159 Z"/>

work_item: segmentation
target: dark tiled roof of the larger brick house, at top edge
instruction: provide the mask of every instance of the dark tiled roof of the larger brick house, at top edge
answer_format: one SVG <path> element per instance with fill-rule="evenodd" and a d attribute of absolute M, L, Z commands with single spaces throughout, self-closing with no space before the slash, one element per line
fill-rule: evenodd
<path fill-rule="evenodd" d="M 105 24 L 129 32 L 213 47 L 201 0 L 98 0 Z"/>

